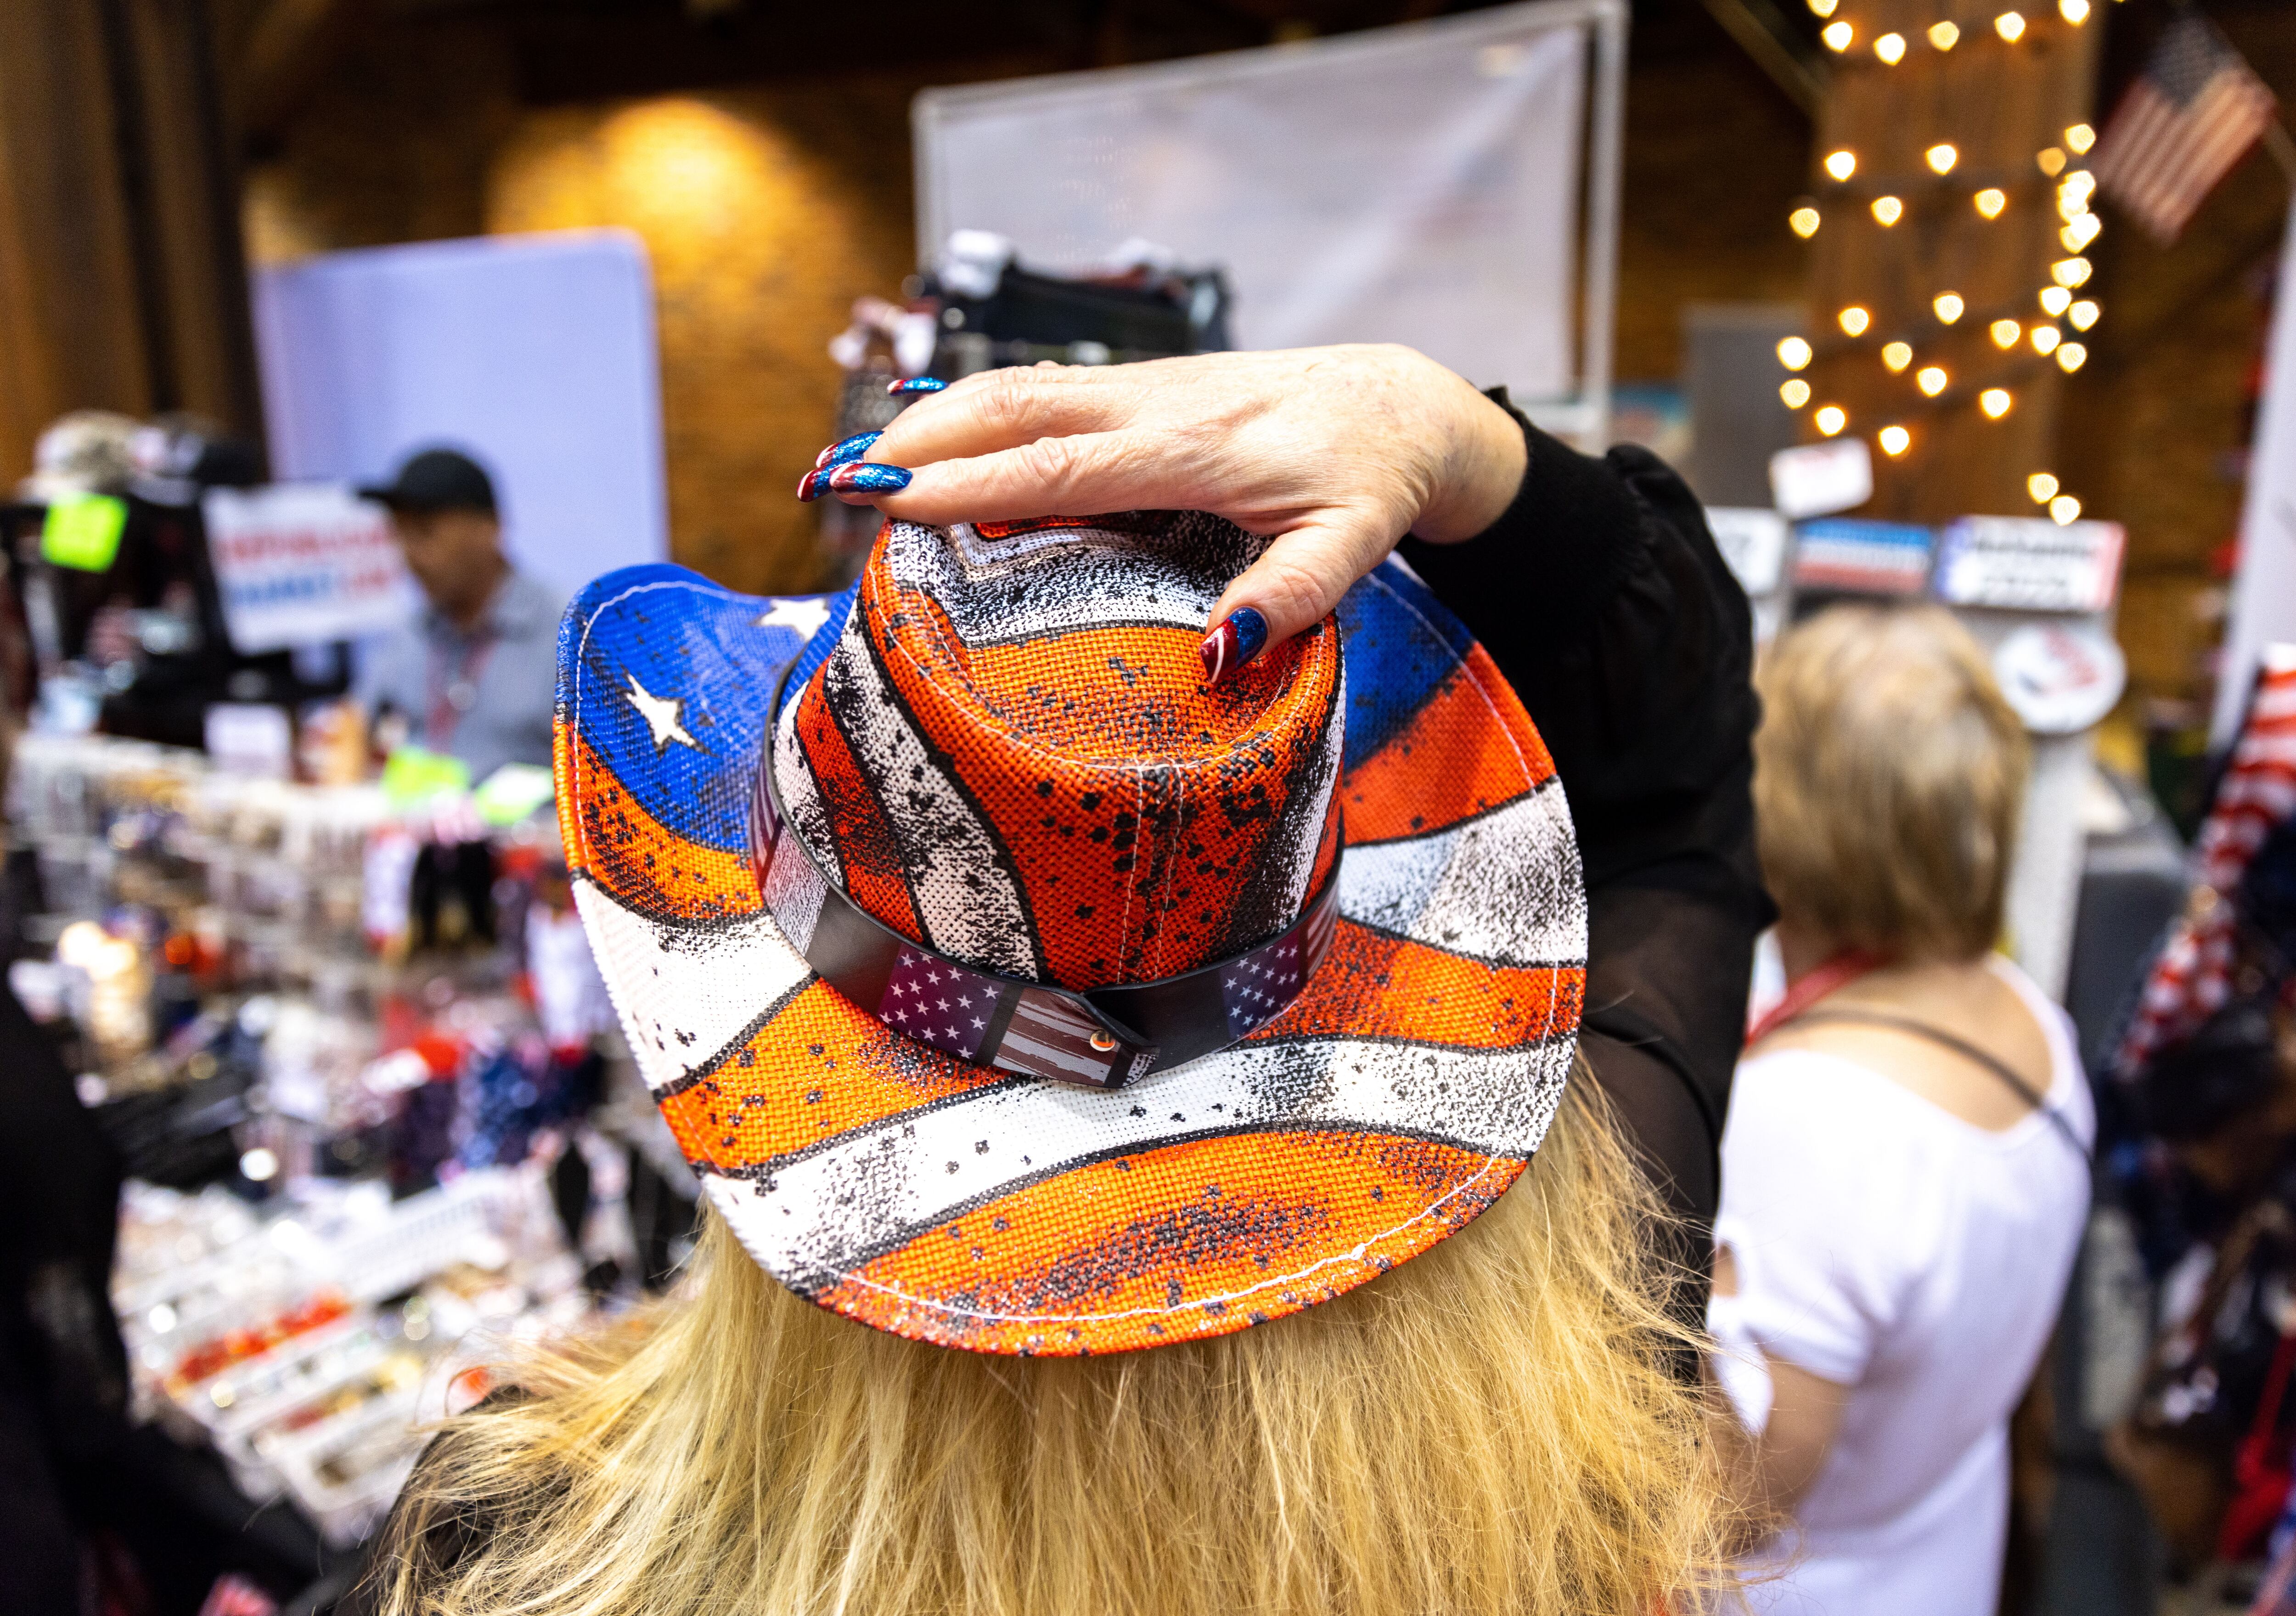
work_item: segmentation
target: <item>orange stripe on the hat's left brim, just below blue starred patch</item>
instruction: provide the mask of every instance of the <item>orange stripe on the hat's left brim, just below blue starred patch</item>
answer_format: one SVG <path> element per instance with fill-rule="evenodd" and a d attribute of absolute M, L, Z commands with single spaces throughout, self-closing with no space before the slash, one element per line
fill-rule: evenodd
<path fill-rule="evenodd" d="M 563 723 L 553 753 L 569 872 L 588 875 L 622 907 L 673 925 L 765 909 L 746 854 L 689 842 L 661 824 L 622 787 L 613 767 Z"/>

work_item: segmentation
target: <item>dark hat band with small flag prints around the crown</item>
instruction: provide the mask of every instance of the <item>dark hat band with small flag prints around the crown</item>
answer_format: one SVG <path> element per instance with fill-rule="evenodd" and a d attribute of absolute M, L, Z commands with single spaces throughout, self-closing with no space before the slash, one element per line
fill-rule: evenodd
<path fill-rule="evenodd" d="M 859 909 L 781 815 L 771 732 L 751 810 L 758 891 L 806 964 L 895 1033 L 999 1072 L 1123 1088 L 1226 1049 L 1306 989 L 1339 925 L 1334 861 L 1300 918 L 1267 941 L 1182 976 L 1075 994 L 951 960 Z"/>

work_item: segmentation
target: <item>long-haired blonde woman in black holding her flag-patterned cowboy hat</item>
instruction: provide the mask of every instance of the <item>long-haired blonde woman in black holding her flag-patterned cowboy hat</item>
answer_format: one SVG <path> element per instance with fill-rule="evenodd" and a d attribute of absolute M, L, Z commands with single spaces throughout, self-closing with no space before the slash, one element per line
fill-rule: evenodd
<path fill-rule="evenodd" d="M 1688 491 L 1403 349 L 976 376 L 820 491 L 893 519 L 840 597 L 569 613 L 567 856 L 707 1228 L 445 1428 L 360 1602 L 1699 1607 L 1669 1253 L 1768 907 Z"/>

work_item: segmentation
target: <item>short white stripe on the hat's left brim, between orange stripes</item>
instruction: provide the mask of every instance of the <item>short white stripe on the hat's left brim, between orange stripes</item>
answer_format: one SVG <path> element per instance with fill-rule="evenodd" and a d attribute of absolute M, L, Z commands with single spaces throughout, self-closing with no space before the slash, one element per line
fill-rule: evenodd
<path fill-rule="evenodd" d="M 767 1005 L 813 973 L 767 914 L 732 925 L 664 925 L 592 881 L 574 881 L 574 907 L 622 1012 L 629 1054 L 654 1090 L 716 1065 Z"/>

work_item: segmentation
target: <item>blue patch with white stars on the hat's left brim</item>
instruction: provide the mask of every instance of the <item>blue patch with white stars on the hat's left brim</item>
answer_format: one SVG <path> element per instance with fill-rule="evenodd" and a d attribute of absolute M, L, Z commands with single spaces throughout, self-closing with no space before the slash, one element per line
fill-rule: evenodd
<path fill-rule="evenodd" d="M 771 691 L 817 615 L 813 601 L 735 595 L 684 567 L 608 572 L 560 627 L 558 709 L 645 813 L 744 852 Z"/>

